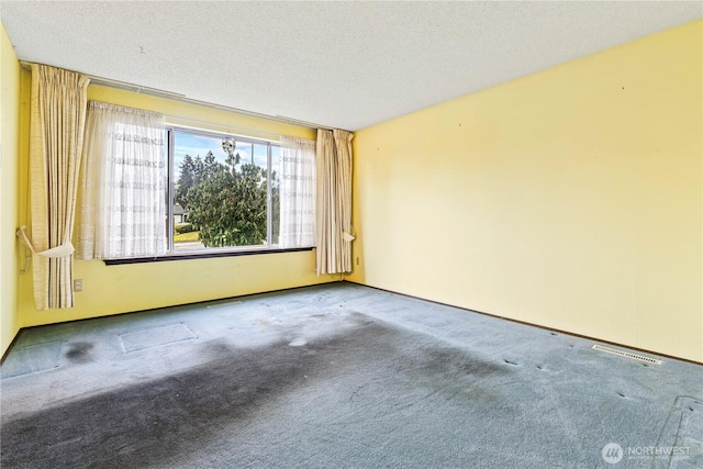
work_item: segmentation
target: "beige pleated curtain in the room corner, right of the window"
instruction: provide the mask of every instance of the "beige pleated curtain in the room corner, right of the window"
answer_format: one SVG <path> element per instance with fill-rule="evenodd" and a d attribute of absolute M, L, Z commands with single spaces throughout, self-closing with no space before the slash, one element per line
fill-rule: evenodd
<path fill-rule="evenodd" d="M 317 275 L 352 271 L 352 138 L 317 131 Z"/>

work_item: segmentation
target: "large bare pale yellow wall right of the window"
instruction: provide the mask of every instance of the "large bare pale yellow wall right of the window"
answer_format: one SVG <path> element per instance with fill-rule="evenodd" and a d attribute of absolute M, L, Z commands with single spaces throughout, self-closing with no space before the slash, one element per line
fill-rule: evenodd
<path fill-rule="evenodd" d="M 703 361 L 702 30 L 357 132 L 349 279 Z"/>

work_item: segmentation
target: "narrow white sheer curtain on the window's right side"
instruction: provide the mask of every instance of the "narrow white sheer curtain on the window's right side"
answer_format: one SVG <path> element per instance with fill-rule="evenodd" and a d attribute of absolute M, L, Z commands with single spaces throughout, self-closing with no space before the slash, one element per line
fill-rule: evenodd
<path fill-rule="evenodd" d="M 281 137 L 280 245 L 315 245 L 315 142 Z"/>

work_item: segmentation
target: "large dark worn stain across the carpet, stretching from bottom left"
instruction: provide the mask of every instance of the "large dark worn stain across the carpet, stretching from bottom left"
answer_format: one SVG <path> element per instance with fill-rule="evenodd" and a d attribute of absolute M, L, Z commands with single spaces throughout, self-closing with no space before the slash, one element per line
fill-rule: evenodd
<path fill-rule="evenodd" d="M 257 412 L 270 410 L 282 395 L 335 376 L 370 373 L 380 382 L 395 372 L 401 377 L 395 381 L 412 381 L 427 389 L 425 395 L 433 395 L 451 392 L 454 386 L 476 384 L 484 375 L 510 372 L 460 349 L 439 343 L 433 347 L 427 337 L 359 317 L 354 321 L 356 325 L 345 328 L 344 335 L 300 346 L 290 346 L 289 340 L 249 348 L 221 342 L 199 345 L 199 353 L 212 358 L 197 369 L 23 414 L 3 423 L 2 467 L 148 467 L 174 455 L 187 457 L 193 445 L 246 428 Z M 146 335 L 144 331 L 138 340 L 137 336 L 127 340 L 143 345 Z M 72 350 L 79 358 L 90 347 Z"/>

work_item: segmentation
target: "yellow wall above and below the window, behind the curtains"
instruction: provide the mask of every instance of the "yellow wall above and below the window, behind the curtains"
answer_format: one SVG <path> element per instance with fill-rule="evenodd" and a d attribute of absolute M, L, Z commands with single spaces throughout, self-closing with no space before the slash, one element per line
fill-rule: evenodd
<path fill-rule="evenodd" d="M 31 83 L 29 75 L 24 76 L 24 89 L 29 89 Z M 178 118 L 182 124 L 204 125 L 202 123 L 207 122 L 211 129 L 217 131 L 268 138 L 275 135 L 315 138 L 314 131 L 309 129 L 113 88 L 91 85 L 88 88 L 88 98 L 163 112 L 167 120 L 175 121 L 174 118 Z M 29 109 L 25 104 L 22 116 L 24 126 L 29 125 L 27 115 Z M 23 157 L 21 170 L 26 171 L 26 155 Z M 20 201 L 20 213 L 25 211 L 26 198 L 23 197 Z M 335 280 L 331 276 L 317 277 L 314 265 L 313 252 L 110 267 L 100 260 L 76 260 L 74 277 L 83 279 L 83 291 L 76 293 L 76 306 L 72 309 L 36 311 L 32 277 L 30 273 L 20 277 L 20 325 L 25 327 L 96 317 Z"/>

